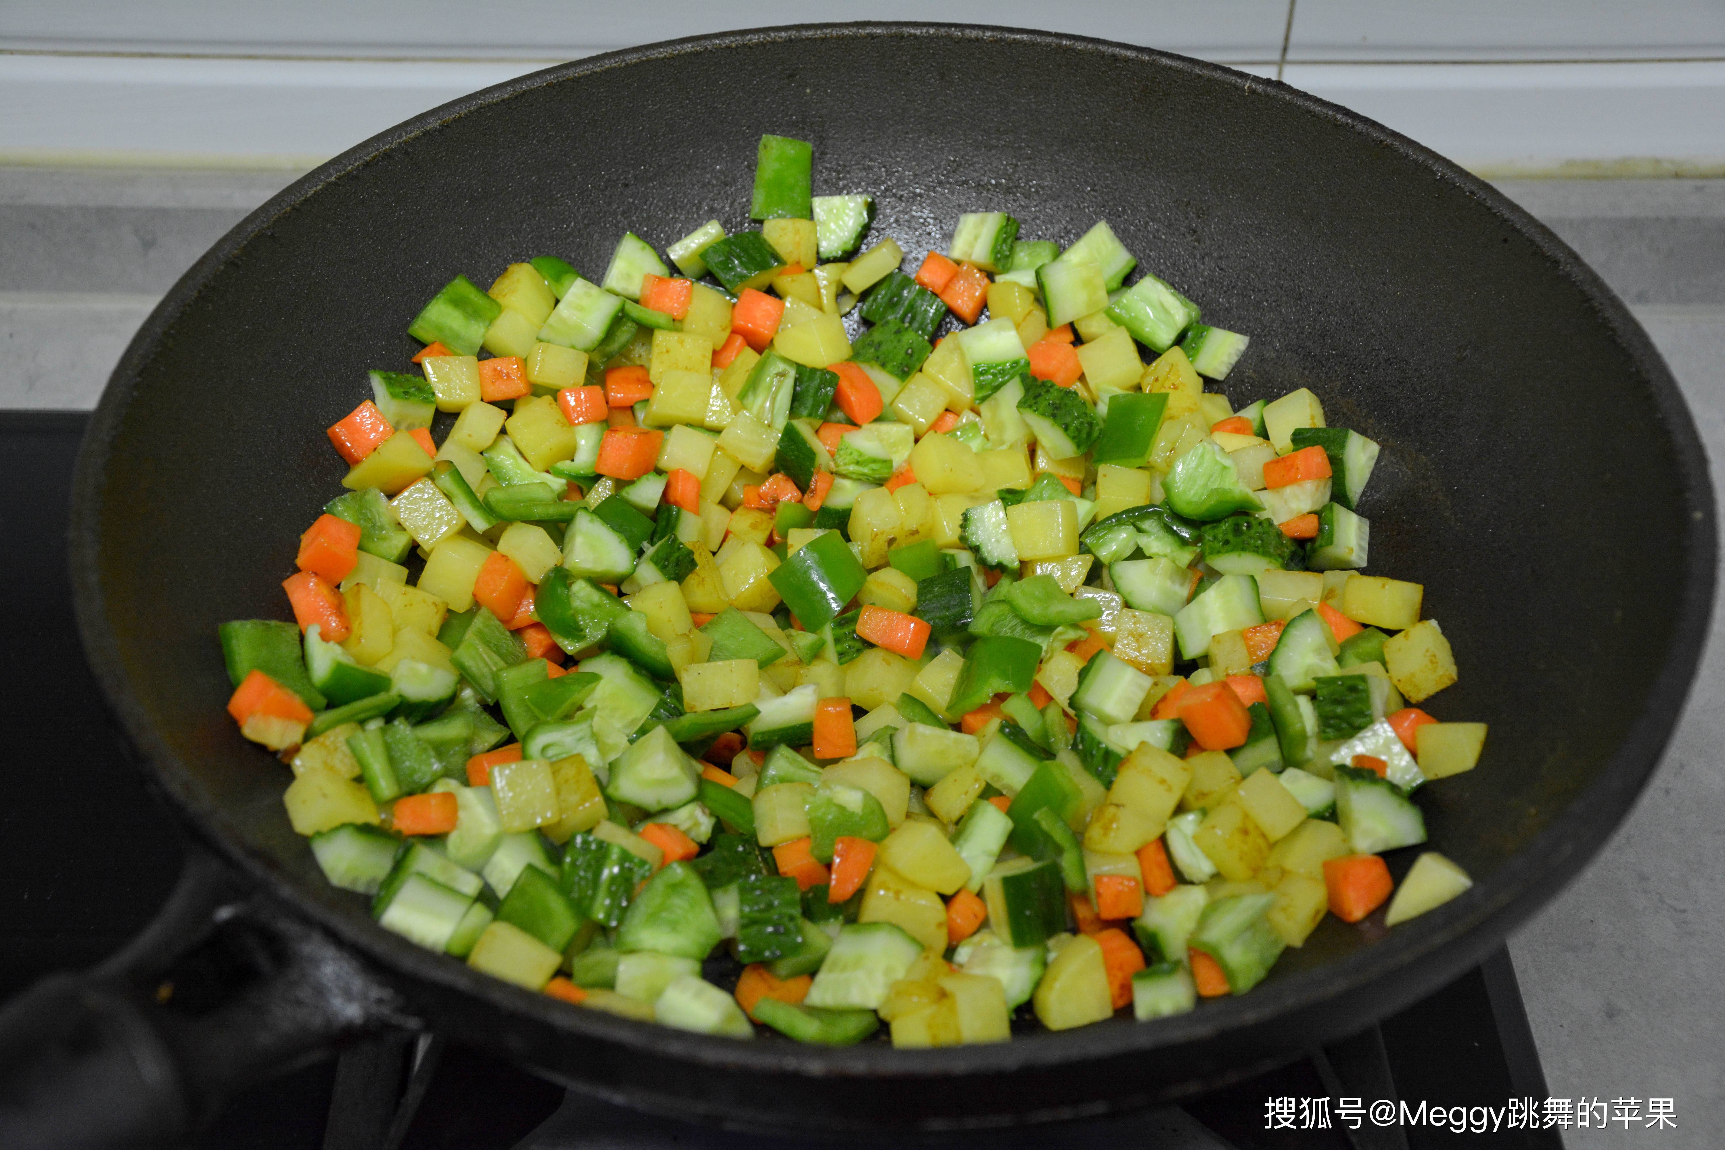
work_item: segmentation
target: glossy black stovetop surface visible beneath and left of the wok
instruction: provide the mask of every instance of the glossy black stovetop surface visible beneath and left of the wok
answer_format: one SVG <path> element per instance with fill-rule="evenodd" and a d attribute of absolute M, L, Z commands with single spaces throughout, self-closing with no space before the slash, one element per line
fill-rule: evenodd
<path fill-rule="evenodd" d="M 72 622 L 66 571 L 67 498 L 86 417 L 0 412 L 0 491 L 10 595 L 0 598 L 5 657 L 0 700 L 19 753 L 0 803 L 0 1000 L 59 969 L 95 964 L 148 922 L 181 864 L 174 819 L 114 734 Z M 214 643 L 214 636 L 210 640 Z M 69 836 L 67 829 L 76 828 Z M 1378 1028 L 1306 1060 L 1190 1098 L 1180 1107 L 1057 1128 L 976 1134 L 976 1145 L 1240 1147 L 1354 1150 L 1559 1147 L 1554 1129 L 1451 1133 L 1440 1126 L 1359 1131 L 1339 1098 L 1401 1098 L 1442 1107 L 1504 1107 L 1546 1097 L 1515 971 L 1499 950 Z M 1311 1103 L 1330 1098 L 1330 1128 Z M 1290 1102 L 1282 1102 L 1290 1100 Z M 550 1119 L 550 1121 L 547 1121 Z M 957 1148 L 964 1134 L 938 1145 Z M 354 1048 L 236 1098 L 193 1143 L 198 1150 L 574 1150 L 702 1147 L 776 1150 L 811 1140 L 738 1136 L 618 1110 L 568 1095 L 490 1053 L 436 1038 Z M 919 1145 L 897 1138 L 892 1145 Z M 935 1145 L 930 1141 L 928 1145 Z"/>

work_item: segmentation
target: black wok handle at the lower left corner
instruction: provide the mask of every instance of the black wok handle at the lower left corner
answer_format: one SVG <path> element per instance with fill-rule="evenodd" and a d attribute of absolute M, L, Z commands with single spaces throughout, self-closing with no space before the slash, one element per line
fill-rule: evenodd
<path fill-rule="evenodd" d="M 124 950 L 0 1009 L 0 1147 L 178 1145 L 233 1093 L 385 1026 L 393 990 L 323 931 L 188 845 Z"/>

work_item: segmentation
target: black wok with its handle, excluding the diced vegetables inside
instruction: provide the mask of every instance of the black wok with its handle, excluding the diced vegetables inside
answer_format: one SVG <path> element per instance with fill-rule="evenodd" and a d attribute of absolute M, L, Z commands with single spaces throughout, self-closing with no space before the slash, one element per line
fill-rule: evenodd
<path fill-rule="evenodd" d="M 1363 507 L 1371 569 L 1425 583 L 1456 648 L 1461 683 L 1430 709 L 1490 724 L 1480 767 L 1420 797 L 1432 845 L 1473 890 L 1394 931 L 1332 919 L 1251 995 L 1182 1017 L 895 1052 L 568 1009 L 381 931 L 323 881 L 283 817 L 285 769 L 223 714 L 216 647 L 224 619 L 285 616 L 297 533 L 342 476 L 323 429 L 367 367 L 417 350 L 405 322 L 457 271 L 485 283 L 557 253 L 597 274 L 624 229 L 664 248 L 706 219 L 747 226 L 761 133 L 811 140 L 816 191 L 873 193 L 871 234 L 913 257 L 978 207 L 1059 241 L 1107 219 L 1142 267 L 1252 336 L 1226 381 L 1235 403 L 1309 386 L 1332 424 L 1385 445 Z M 1049 1119 L 1254 1072 L 1430 993 L 1577 872 L 1665 747 L 1715 578 L 1704 457 L 1666 367 L 1597 276 L 1494 190 L 1275 83 L 954 26 L 602 55 L 326 164 L 143 326 L 91 424 L 74 510 L 91 664 L 219 860 L 133 952 L 7 1017 L 7 1090 L 83 1100 L 62 1124 L 91 1143 L 166 1138 L 235 1084 L 392 1024 L 637 1107 L 761 1128 Z M 1397 876 L 1414 853 L 1397 852 Z M 228 997 L 143 1005 L 190 940 L 247 959 Z"/>

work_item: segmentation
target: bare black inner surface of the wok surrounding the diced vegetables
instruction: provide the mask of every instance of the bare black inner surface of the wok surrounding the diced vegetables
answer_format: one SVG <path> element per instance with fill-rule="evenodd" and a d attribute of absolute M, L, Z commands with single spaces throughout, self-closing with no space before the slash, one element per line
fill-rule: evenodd
<path fill-rule="evenodd" d="M 707 219 L 749 228 L 762 133 L 814 145 L 816 195 L 871 193 L 864 243 L 894 236 L 913 264 L 966 210 L 1063 245 L 1106 219 L 1140 269 L 1251 334 L 1220 390 L 1244 407 L 1311 388 L 1332 426 L 1383 445 L 1361 507 L 1368 571 L 1423 583 L 1456 650 L 1461 681 L 1427 709 L 1490 724 L 1480 769 L 1418 800 L 1470 895 L 1389 934 L 1328 919 L 1264 986 L 1206 1009 L 1218 1021 L 1114 1021 L 1087 1041 L 1152 1047 L 1394 979 L 1554 883 L 1639 790 L 1711 597 L 1699 448 L 1622 307 L 1484 184 L 1263 81 L 1037 34 L 743 34 L 500 91 L 342 157 L 243 224 L 128 353 L 86 459 L 85 629 L 122 719 L 193 821 L 347 938 L 407 960 L 288 828 L 285 767 L 224 714 L 217 624 L 286 617 L 298 533 L 345 471 L 324 428 L 364 398 L 367 369 L 407 366 L 407 321 L 443 283 L 483 286 L 533 255 L 597 279 L 624 231 L 662 252 Z M 440 978 L 478 984 L 448 966 Z M 1078 1041 L 971 1057 L 1004 1067 Z"/>

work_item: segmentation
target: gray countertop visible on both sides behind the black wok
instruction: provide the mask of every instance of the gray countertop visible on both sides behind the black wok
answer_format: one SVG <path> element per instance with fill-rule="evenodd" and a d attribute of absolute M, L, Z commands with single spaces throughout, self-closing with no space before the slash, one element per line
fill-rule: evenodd
<path fill-rule="evenodd" d="M 154 302 L 283 172 L 0 167 L 0 407 L 86 409 Z M 1647 328 L 1725 460 L 1725 181 L 1499 184 Z M 1513 936 L 1558 1098 L 1672 1098 L 1677 1129 L 1575 1147 L 1725 1141 L 1725 645 L 1720 622 L 1665 762 L 1599 859 Z M 1442 1102 L 1433 1098 L 1432 1102 Z"/>

